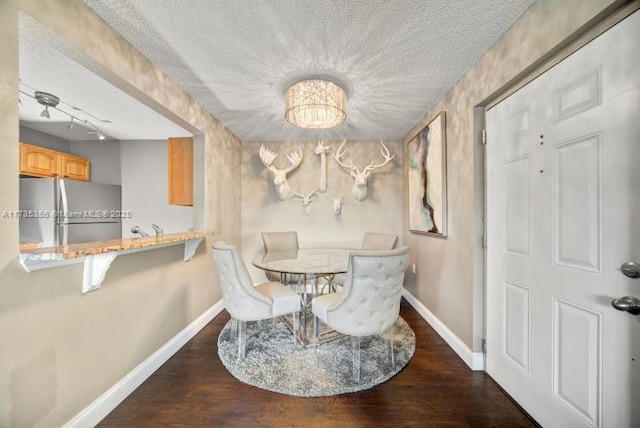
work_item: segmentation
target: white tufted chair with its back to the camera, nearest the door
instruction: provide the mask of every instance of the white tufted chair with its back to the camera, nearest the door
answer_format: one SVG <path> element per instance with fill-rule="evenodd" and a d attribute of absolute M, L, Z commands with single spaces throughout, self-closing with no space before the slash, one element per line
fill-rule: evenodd
<path fill-rule="evenodd" d="M 351 336 L 353 379 L 360 381 L 360 338 L 390 330 L 391 363 L 393 326 L 400 314 L 404 271 L 409 248 L 388 251 L 354 251 L 349 255 L 346 280 L 341 292 L 324 294 L 311 302 L 318 340 L 320 321 Z"/>

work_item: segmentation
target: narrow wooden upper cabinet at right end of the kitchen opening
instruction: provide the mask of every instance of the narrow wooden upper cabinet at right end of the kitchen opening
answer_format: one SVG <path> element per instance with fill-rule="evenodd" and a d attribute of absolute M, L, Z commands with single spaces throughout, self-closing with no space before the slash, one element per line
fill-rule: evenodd
<path fill-rule="evenodd" d="M 193 206 L 193 138 L 169 138 L 169 205 Z"/>

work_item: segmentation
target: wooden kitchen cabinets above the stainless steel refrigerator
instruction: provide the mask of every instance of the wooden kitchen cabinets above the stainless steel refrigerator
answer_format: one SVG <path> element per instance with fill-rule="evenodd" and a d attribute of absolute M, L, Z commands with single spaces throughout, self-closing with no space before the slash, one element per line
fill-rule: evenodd
<path fill-rule="evenodd" d="M 20 174 L 89 181 L 90 161 L 82 156 L 20 143 Z"/>

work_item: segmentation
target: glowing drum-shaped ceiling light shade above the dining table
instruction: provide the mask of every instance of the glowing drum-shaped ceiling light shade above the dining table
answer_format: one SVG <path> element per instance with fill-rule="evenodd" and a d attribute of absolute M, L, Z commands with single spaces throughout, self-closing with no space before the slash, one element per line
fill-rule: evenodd
<path fill-rule="evenodd" d="M 284 109 L 284 117 L 292 125 L 333 128 L 347 118 L 347 93 L 328 80 L 302 80 L 287 89 Z"/>

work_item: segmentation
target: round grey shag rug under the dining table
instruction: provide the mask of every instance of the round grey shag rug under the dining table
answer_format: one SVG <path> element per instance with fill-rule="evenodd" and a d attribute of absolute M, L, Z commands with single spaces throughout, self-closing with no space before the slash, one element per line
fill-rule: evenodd
<path fill-rule="evenodd" d="M 318 349 L 305 348 L 299 342 L 294 343 L 282 317 L 275 322 L 247 322 L 247 355 L 239 361 L 231 325 L 229 321 L 218 337 L 218 355 L 227 370 L 249 385 L 297 397 L 345 394 L 385 382 L 409 363 L 416 345 L 413 330 L 401 317 L 394 329 L 394 365 L 384 337 L 363 337 L 360 382 L 356 383 L 350 337 L 341 336 Z"/>

